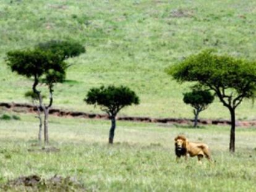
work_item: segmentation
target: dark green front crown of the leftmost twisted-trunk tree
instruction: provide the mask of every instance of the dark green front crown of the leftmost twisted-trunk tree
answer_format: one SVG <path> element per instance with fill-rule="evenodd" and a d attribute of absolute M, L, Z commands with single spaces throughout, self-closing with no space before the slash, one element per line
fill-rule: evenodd
<path fill-rule="evenodd" d="M 49 86 L 65 79 L 67 65 L 63 60 L 61 51 L 53 53 L 38 48 L 9 51 L 6 59 L 12 71 L 41 80 Z"/>

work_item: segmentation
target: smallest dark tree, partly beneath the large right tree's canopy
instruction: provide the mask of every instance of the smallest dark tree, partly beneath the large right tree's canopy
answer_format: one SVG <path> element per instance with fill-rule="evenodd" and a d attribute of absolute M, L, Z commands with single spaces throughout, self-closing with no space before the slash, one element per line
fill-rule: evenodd
<path fill-rule="evenodd" d="M 207 109 L 213 102 L 214 96 L 207 90 L 192 90 L 184 93 L 183 101 L 192 106 L 194 112 L 194 127 L 197 127 L 198 115 L 201 111 Z"/>

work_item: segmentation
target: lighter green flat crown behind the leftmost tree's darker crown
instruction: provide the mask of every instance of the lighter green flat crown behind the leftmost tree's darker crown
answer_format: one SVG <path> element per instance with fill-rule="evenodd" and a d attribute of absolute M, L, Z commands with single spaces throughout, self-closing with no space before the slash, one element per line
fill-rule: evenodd
<path fill-rule="evenodd" d="M 62 52 L 65 59 L 85 53 L 85 48 L 82 44 L 75 41 L 51 40 L 45 43 L 39 43 L 37 47 L 45 51 L 51 51 L 54 54 Z"/>

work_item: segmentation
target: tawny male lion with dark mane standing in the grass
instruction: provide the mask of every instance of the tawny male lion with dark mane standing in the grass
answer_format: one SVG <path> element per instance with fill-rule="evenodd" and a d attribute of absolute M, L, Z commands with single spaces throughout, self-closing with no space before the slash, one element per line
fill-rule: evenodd
<path fill-rule="evenodd" d="M 206 157 L 209 162 L 211 162 L 210 151 L 205 143 L 192 143 L 187 140 L 183 135 L 178 135 L 174 139 L 175 141 L 175 154 L 176 160 L 179 161 L 181 156 L 184 156 L 187 160 L 187 157 L 197 156 L 198 162 L 201 164 L 203 157 Z"/>

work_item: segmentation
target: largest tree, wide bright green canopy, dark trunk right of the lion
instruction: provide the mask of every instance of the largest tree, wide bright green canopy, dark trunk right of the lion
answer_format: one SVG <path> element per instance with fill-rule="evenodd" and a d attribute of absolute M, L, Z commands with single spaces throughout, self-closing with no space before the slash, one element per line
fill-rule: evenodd
<path fill-rule="evenodd" d="M 207 50 L 189 56 L 167 72 L 179 82 L 194 81 L 215 92 L 231 115 L 229 151 L 234 152 L 235 111 L 244 98 L 255 97 L 256 63 Z"/>

